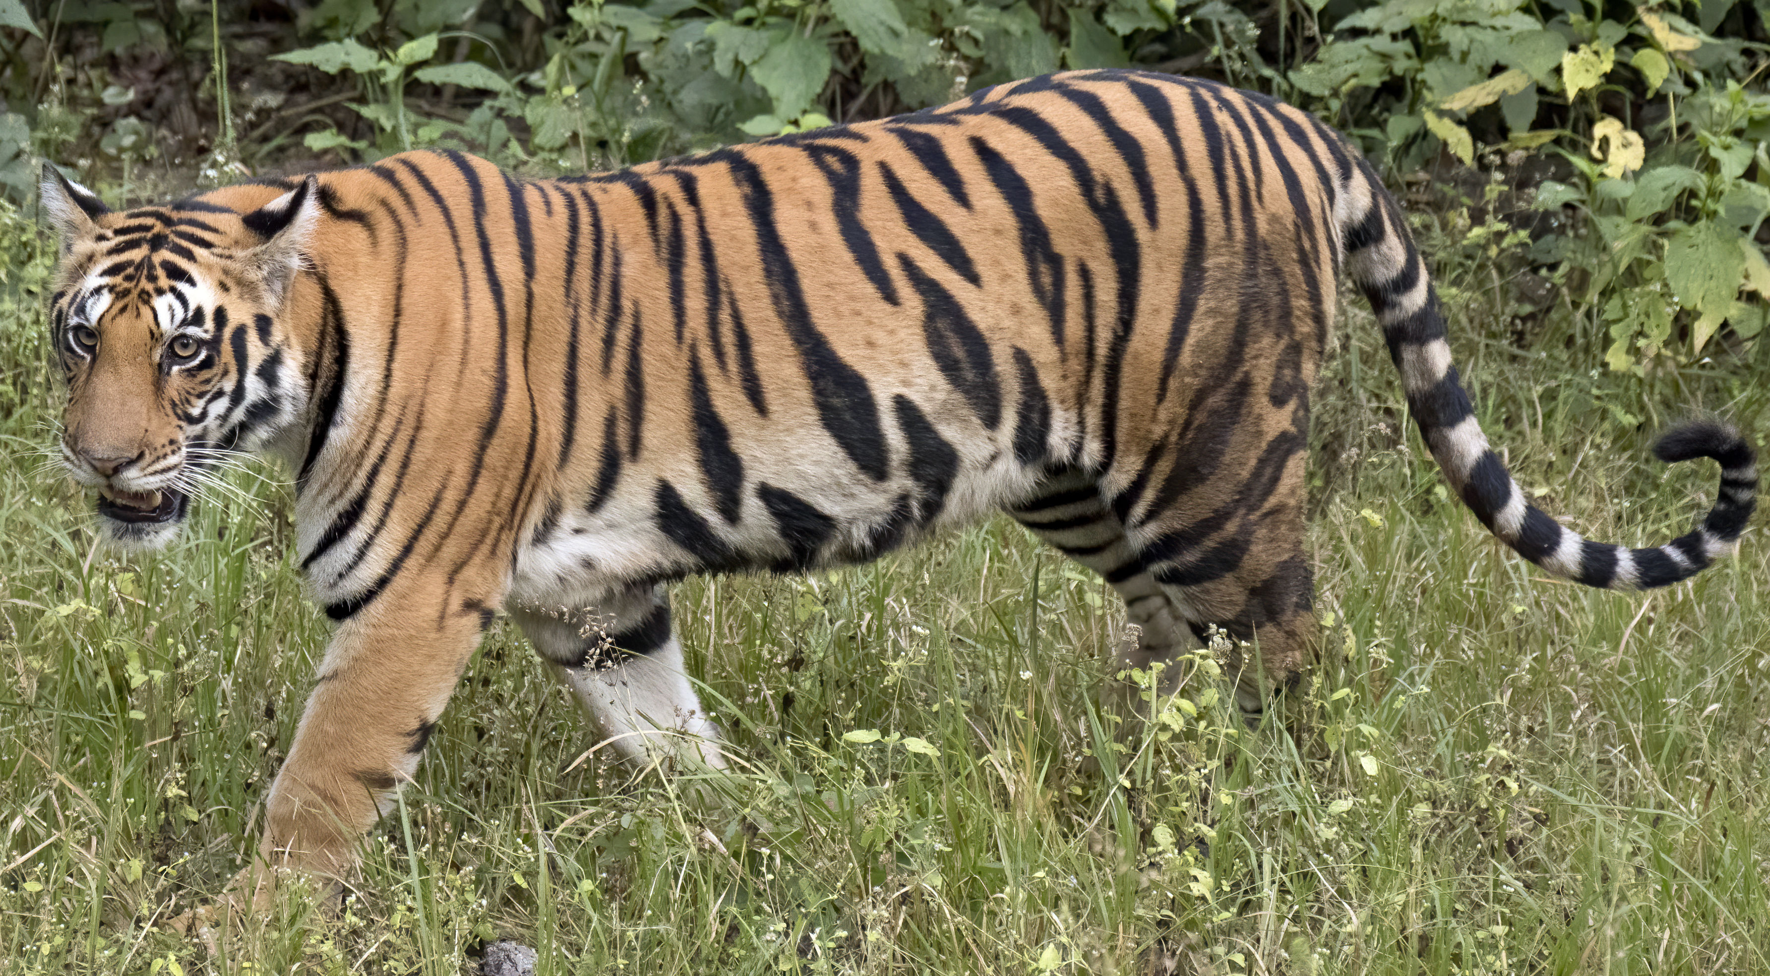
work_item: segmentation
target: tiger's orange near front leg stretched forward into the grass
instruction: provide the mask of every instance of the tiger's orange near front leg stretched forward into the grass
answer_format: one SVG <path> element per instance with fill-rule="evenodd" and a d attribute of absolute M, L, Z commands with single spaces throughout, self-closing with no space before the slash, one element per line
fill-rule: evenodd
<path fill-rule="evenodd" d="M 395 790 L 412 778 L 430 730 L 442 714 L 467 658 L 480 644 L 490 587 L 441 573 L 412 573 L 338 624 L 315 675 L 289 759 L 266 801 L 257 865 L 235 879 L 235 900 L 251 884 L 264 907 L 264 877 L 253 868 L 315 875 L 336 888 L 358 863 L 363 835 L 388 813 Z"/>

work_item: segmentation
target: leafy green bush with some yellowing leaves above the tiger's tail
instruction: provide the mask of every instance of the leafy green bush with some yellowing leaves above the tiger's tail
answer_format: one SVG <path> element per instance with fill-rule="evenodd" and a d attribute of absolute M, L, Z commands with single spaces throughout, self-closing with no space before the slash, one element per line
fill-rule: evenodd
<path fill-rule="evenodd" d="M 1439 152 L 1559 161 L 1566 179 L 1536 207 L 1574 207 L 1577 226 L 1533 255 L 1584 272 L 1575 299 L 1602 320 L 1612 370 L 1699 355 L 1722 324 L 1738 339 L 1763 331 L 1770 99 L 1745 87 L 1763 44 L 1602 0 L 1386 0 L 1335 32 L 1290 80 L 1342 124 L 1381 120 L 1354 131 L 1397 168 Z"/>

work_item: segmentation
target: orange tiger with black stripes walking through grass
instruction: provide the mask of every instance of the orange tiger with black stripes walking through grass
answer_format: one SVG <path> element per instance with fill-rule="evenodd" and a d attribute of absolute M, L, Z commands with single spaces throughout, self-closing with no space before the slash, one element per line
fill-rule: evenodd
<path fill-rule="evenodd" d="M 616 755 L 717 774 L 671 582 L 997 511 L 1117 591 L 1122 667 L 1234 638 L 1257 721 L 1319 629 L 1304 460 L 1342 274 L 1450 486 L 1545 573 L 1664 587 L 1756 504 L 1719 421 L 1655 447 L 1720 463 L 1667 545 L 1531 504 L 1375 168 L 1205 80 L 1071 71 L 558 179 L 423 149 L 120 212 L 46 166 L 41 200 L 60 451 L 101 532 L 165 545 L 241 453 L 294 472 L 335 629 L 258 856 L 315 877 L 358 863 L 499 612 Z"/>

